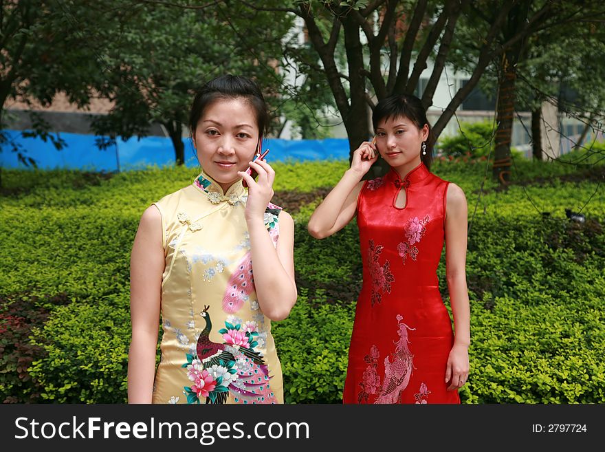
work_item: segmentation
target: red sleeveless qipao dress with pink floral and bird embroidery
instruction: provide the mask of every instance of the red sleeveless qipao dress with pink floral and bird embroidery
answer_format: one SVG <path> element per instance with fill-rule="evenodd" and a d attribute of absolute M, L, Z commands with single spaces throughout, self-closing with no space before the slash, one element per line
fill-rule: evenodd
<path fill-rule="evenodd" d="M 454 343 L 437 266 L 449 182 L 424 164 L 404 180 L 391 169 L 364 183 L 358 226 L 364 264 L 344 403 L 460 403 L 447 391 Z M 400 190 L 406 205 L 395 206 Z"/>

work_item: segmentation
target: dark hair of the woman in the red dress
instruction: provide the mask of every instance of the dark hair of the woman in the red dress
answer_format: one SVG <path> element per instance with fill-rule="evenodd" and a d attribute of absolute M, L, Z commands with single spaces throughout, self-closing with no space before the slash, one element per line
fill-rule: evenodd
<path fill-rule="evenodd" d="M 418 129 L 422 129 L 426 124 L 428 126 L 428 137 L 426 138 L 426 155 L 420 153 L 420 160 L 425 166 L 430 169 L 432 162 L 432 131 L 430 124 L 426 119 L 426 111 L 422 106 L 422 102 L 416 96 L 407 94 L 392 94 L 380 100 L 372 114 L 372 125 L 374 131 L 378 128 L 378 123 L 382 120 L 404 116 L 414 123 Z"/>

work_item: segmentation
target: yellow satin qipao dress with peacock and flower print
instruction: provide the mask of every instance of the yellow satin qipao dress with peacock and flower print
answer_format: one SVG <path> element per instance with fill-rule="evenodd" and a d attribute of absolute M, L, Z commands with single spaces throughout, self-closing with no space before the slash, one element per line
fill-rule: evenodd
<path fill-rule="evenodd" d="M 223 193 L 205 173 L 154 203 L 162 214 L 162 358 L 153 403 L 283 403 L 271 322 L 259 308 L 236 182 Z M 281 208 L 269 204 L 274 246 Z"/>

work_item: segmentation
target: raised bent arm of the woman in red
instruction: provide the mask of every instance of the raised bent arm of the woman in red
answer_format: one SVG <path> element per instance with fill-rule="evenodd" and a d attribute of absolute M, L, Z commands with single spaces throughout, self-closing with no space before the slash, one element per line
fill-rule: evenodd
<path fill-rule="evenodd" d="M 323 239 L 349 224 L 355 216 L 357 198 L 364 185 L 362 177 L 376 161 L 376 155 L 375 144 L 371 142 L 363 142 L 355 150 L 351 168 L 311 215 L 307 224 L 309 234 L 316 239 Z"/>

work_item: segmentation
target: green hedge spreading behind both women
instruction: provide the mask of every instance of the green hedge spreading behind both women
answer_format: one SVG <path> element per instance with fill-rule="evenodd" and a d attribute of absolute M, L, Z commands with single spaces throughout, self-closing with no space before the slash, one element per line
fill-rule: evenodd
<path fill-rule="evenodd" d="M 605 402 L 602 186 L 578 165 L 523 161 L 514 184 L 500 191 L 485 179 L 485 164 L 433 167 L 459 184 L 469 203 L 472 374 L 463 401 Z M 276 189 L 310 193 L 338 182 L 347 162 L 275 166 Z M 0 329 L 14 332 L 0 342 L 3 400 L 126 399 L 129 254 L 137 223 L 148 204 L 194 175 L 191 169 L 113 177 L 3 171 Z M 565 209 L 579 211 L 590 198 L 582 210 L 586 224 L 569 222 Z M 287 402 L 340 401 L 361 284 L 354 223 L 322 241 L 306 233 L 317 202 L 294 215 L 300 297 L 289 318 L 274 324 Z M 448 305 L 444 273 L 442 258 Z M 21 354 L 30 360 L 27 369 L 17 364 Z"/>

